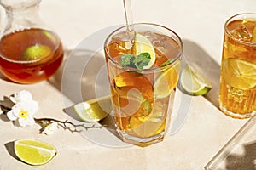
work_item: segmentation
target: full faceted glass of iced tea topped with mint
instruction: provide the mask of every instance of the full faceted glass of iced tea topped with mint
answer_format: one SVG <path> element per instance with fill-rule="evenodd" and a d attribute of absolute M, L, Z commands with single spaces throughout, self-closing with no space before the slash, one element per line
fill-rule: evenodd
<path fill-rule="evenodd" d="M 180 37 L 164 26 L 134 24 L 108 36 L 113 117 L 125 142 L 147 146 L 163 140 L 182 54 Z"/>

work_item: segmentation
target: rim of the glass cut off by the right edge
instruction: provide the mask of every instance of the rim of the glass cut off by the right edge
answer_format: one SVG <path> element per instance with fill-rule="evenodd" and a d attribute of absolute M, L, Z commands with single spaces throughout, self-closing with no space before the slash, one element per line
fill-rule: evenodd
<path fill-rule="evenodd" d="M 244 45 L 247 45 L 247 46 L 255 46 L 255 47 L 256 47 L 256 42 L 245 42 L 245 41 L 239 40 L 239 39 L 237 39 L 236 37 L 234 37 L 234 36 L 232 35 L 231 31 L 227 28 L 227 26 L 230 24 L 230 21 L 231 21 L 231 20 L 235 19 L 235 18 L 238 17 L 238 16 L 242 16 L 242 15 L 244 15 L 245 17 L 243 17 L 243 18 L 241 17 L 241 18 L 238 18 L 238 19 L 241 19 L 241 20 L 242 20 L 242 19 L 250 19 L 250 17 L 246 17 L 246 16 L 247 16 L 247 15 L 255 15 L 255 20 L 256 20 L 256 13 L 240 13 L 240 14 L 232 15 L 228 20 L 225 21 L 225 24 L 224 24 L 224 32 L 225 32 L 225 34 L 226 34 L 228 37 L 234 39 L 236 42 L 240 42 L 240 43 L 242 43 L 242 44 L 244 44 Z"/>

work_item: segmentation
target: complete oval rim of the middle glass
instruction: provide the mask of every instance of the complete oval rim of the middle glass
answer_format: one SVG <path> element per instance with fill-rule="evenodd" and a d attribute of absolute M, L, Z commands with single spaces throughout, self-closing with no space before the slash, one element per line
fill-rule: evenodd
<path fill-rule="evenodd" d="M 149 68 L 149 69 L 143 69 L 142 71 L 136 69 L 136 68 L 131 68 L 129 66 L 125 66 L 125 65 L 121 65 L 119 62 L 117 62 L 116 60 L 114 60 L 110 54 L 108 54 L 108 51 L 106 50 L 106 48 L 108 47 L 108 40 L 110 39 L 110 37 L 112 37 L 117 31 L 125 28 L 125 27 L 128 27 L 128 26 L 157 26 L 157 27 L 161 27 L 163 29 L 165 29 L 166 31 L 170 31 L 172 32 L 172 34 L 177 37 L 177 40 L 178 40 L 178 45 L 180 46 L 181 48 L 181 53 L 180 54 L 177 54 L 177 56 L 172 59 L 172 61 L 166 65 L 163 65 L 163 66 L 157 66 L 157 67 L 154 67 L 154 68 Z M 176 40 L 174 40 L 176 41 Z M 177 42 L 177 41 L 176 41 Z M 113 64 L 115 65 L 119 65 L 119 67 L 122 67 L 124 68 L 126 71 L 140 71 L 140 72 L 147 72 L 147 71 L 156 71 L 156 70 L 159 70 L 159 69 L 164 69 L 166 67 L 169 67 L 170 65 L 174 65 L 176 63 L 176 61 L 178 59 L 180 59 L 183 55 L 183 42 L 182 42 L 182 39 L 177 35 L 177 33 L 175 31 L 172 31 L 170 28 L 167 28 L 166 26 L 161 26 L 161 25 L 158 25 L 158 24 L 153 24 L 153 23 L 146 23 L 146 22 L 141 22 L 141 23 L 134 23 L 134 24 L 131 24 L 131 25 L 125 25 L 125 26 L 120 26 L 119 28 L 115 29 L 114 31 L 112 31 L 108 37 L 106 38 L 105 42 L 104 42 L 104 52 L 105 54 L 107 54 L 108 56 L 108 59 L 110 59 Z"/>

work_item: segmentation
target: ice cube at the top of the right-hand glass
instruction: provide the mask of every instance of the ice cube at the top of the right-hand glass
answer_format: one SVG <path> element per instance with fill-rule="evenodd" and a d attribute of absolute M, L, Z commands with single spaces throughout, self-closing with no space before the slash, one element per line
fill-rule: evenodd
<path fill-rule="evenodd" d="M 231 31 L 231 34 L 236 37 L 236 39 L 244 42 L 251 42 L 253 38 L 252 34 L 250 34 L 247 27 L 244 25 L 238 26 L 235 30 Z"/>

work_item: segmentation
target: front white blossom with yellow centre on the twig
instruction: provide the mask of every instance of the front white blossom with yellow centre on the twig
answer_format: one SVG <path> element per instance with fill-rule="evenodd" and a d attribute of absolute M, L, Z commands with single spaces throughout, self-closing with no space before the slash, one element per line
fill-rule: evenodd
<path fill-rule="evenodd" d="M 19 101 L 12 110 L 7 112 L 11 121 L 17 121 L 20 127 L 32 126 L 35 122 L 33 115 L 38 111 L 38 102 L 34 100 Z"/>

